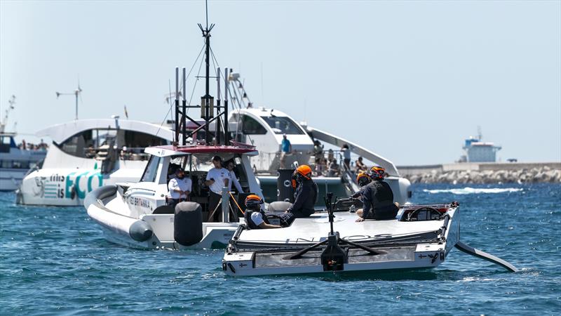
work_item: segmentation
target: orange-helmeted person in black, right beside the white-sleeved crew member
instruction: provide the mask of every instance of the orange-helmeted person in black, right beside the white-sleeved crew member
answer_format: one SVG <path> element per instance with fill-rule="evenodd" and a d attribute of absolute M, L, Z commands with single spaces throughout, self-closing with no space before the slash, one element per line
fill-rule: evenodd
<path fill-rule="evenodd" d="M 293 213 L 295 218 L 308 217 L 315 210 L 313 206 L 318 200 L 318 185 L 311 180 L 311 168 L 303 164 L 292 174 L 292 187 L 296 187 L 296 198 L 287 212 Z"/>

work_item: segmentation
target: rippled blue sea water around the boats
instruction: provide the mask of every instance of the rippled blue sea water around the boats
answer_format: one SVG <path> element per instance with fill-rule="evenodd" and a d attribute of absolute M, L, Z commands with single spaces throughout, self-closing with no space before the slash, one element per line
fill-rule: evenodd
<path fill-rule="evenodd" d="M 461 203 L 461 239 L 520 272 L 453 250 L 433 270 L 234 278 L 223 251 L 106 242 L 81 207 L 0 193 L 0 315 L 560 315 L 561 185 L 413 185 Z"/>

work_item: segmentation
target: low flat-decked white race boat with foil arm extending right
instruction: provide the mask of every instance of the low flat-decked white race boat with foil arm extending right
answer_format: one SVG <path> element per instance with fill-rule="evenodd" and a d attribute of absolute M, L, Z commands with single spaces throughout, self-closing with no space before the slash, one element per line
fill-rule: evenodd
<path fill-rule="evenodd" d="M 457 202 L 407 205 L 393 220 L 356 223 L 356 213 L 349 211 L 352 202 L 332 204 L 331 199 L 325 199 L 326 211 L 297 218 L 288 227 L 249 230 L 241 225 L 224 253 L 222 269 L 227 275 L 250 276 L 435 268 L 455 246 L 516 271 L 460 242 Z M 271 215 L 271 223 L 275 218 Z"/>

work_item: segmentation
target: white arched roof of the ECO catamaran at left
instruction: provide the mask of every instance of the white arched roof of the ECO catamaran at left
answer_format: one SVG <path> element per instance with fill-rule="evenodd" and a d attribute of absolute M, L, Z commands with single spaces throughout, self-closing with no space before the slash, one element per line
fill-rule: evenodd
<path fill-rule="evenodd" d="M 151 124 L 146 121 L 133 119 L 118 119 L 119 129 L 137 131 L 158 136 L 166 140 L 173 140 L 173 131 L 167 126 Z M 77 119 L 62 124 L 49 126 L 36 132 L 36 136 L 48 136 L 57 143 L 62 143 L 69 137 L 90 129 L 116 129 L 116 119 Z"/>

